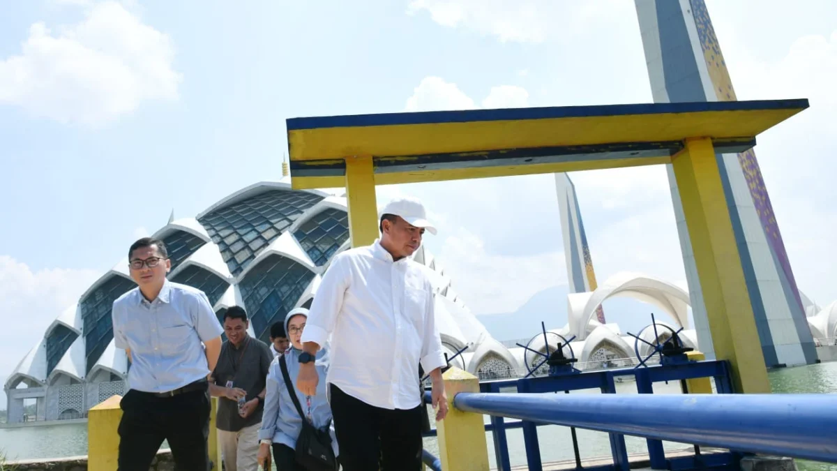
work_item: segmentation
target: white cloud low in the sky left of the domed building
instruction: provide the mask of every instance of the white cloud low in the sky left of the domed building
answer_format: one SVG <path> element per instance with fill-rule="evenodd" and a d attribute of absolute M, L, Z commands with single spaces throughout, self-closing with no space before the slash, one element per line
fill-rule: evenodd
<path fill-rule="evenodd" d="M 49 324 L 78 302 L 100 273 L 94 270 L 46 268 L 33 271 L 11 256 L 0 255 L 0 313 L 13 329 L 0 333 L 0 379 L 3 383 L 23 355 L 44 335 Z M 0 396 L 4 396 L 0 391 Z M 5 408 L 0 397 L 0 407 Z"/>

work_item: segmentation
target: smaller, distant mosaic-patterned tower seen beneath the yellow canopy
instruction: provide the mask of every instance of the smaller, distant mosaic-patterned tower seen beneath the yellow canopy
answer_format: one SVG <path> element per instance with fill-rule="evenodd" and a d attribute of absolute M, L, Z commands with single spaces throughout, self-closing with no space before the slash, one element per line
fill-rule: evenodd
<path fill-rule="evenodd" d="M 555 173 L 555 188 L 558 194 L 558 208 L 561 211 L 561 232 L 564 255 L 567 259 L 569 291 L 593 291 L 598 286 L 596 273 L 593 272 L 593 258 L 587 245 L 587 235 L 584 234 L 575 185 L 567 173 Z M 596 320 L 604 323 L 604 311 L 601 306 L 596 309 Z"/>

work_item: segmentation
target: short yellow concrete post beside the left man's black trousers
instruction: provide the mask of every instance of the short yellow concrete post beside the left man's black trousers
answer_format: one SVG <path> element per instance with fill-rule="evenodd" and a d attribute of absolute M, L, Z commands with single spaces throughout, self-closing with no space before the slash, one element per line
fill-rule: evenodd
<path fill-rule="evenodd" d="M 87 413 L 87 469 L 114 471 L 119 458 L 119 421 L 122 396 L 110 396 Z"/>

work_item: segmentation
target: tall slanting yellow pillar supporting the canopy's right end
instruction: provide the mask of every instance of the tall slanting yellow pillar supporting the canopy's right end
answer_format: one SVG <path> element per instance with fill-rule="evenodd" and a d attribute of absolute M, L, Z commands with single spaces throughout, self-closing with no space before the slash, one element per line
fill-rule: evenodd
<path fill-rule="evenodd" d="M 686 148 L 672 158 L 672 164 L 716 358 L 732 365 L 736 391 L 769 393 L 761 341 L 715 150 L 708 137 L 687 139 L 685 143 Z"/>

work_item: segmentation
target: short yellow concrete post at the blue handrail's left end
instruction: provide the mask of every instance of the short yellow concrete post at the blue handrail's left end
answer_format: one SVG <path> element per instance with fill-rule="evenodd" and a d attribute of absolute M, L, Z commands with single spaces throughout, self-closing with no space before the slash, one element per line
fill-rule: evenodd
<path fill-rule="evenodd" d="M 444 392 L 448 396 L 448 417 L 436 422 L 439 460 L 444 471 L 488 471 L 488 442 L 482 415 L 454 409 L 454 396 L 460 392 L 480 392 L 480 380 L 452 366 L 444 372 Z"/>

